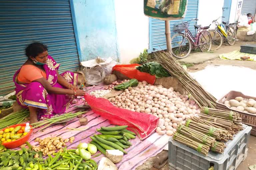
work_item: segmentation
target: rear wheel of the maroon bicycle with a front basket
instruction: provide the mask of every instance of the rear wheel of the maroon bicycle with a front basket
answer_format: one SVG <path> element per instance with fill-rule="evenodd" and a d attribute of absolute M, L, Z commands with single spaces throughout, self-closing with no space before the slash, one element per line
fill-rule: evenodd
<path fill-rule="evenodd" d="M 201 52 L 210 51 L 212 45 L 211 35 L 208 31 L 202 31 L 198 37 L 198 48 Z"/>

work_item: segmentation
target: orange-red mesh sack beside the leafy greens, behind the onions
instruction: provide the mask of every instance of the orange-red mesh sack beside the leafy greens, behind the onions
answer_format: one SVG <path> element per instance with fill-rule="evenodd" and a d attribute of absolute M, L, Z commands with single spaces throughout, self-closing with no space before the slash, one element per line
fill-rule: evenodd
<path fill-rule="evenodd" d="M 139 81 L 147 81 L 149 84 L 154 84 L 156 81 L 156 76 L 149 73 L 141 72 L 136 69 L 136 66 L 140 64 L 121 64 L 115 65 L 112 71 L 116 70 L 130 79 L 137 79 Z"/>

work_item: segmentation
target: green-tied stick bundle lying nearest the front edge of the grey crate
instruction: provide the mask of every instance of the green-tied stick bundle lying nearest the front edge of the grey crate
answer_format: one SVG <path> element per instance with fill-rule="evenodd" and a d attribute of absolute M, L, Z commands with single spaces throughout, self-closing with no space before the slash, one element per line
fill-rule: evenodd
<path fill-rule="evenodd" d="M 175 132 L 175 134 L 173 135 L 173 139 L 185 144 L 193 149 L 196 149 L 198 152 L 204 154 L 204 155 L 208 155 L 208 152 L 210 150 L 209 145 L 205 145 L 203 143 L 199 143 L 191 138 L 188 138 L 187 136 L 180 134 L 179 132 Z"/>

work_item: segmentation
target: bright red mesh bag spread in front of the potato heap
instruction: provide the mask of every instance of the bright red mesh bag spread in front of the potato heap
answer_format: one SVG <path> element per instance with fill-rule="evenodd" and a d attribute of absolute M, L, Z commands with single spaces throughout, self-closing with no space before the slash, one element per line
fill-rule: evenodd
<path fill-rule="evenodd" d="M 138 134 L 140 139 L 147 138 L 157 128 L 159 118 L 154 115 L 118 108 L 107 99 L 95 98 L 88 93 L 84 98 L 94 113 L 109 120 L 113 125 L 128 125 L 128 129 Z"/>

